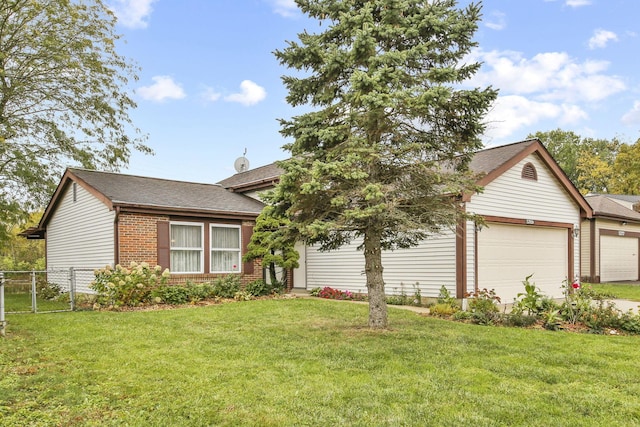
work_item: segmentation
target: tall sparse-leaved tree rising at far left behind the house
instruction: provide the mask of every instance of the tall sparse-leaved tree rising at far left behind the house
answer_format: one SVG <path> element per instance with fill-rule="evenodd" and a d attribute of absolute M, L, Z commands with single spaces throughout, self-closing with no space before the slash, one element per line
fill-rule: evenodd
<path fill-rule="evenodd" d="M 128 115 L 136 68 L 116 52 L 115 22 L 101 0 L 0 1 L 5 226 L 46 204 L 64 166 L 117 170 L 131 149 L 150 152 Z"/>

